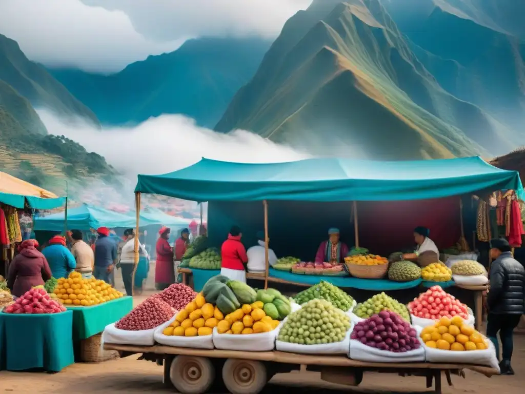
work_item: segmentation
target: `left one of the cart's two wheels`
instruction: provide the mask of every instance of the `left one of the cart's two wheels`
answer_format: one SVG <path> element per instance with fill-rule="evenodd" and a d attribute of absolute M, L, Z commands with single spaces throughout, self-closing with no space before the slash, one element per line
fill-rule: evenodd
<path fill-rule="evenodd" d="M 215 368 L 206 357 L 177 356 L 171 363 L 170 380 L 183 394 L 200 394 L 215 380 Z"/>

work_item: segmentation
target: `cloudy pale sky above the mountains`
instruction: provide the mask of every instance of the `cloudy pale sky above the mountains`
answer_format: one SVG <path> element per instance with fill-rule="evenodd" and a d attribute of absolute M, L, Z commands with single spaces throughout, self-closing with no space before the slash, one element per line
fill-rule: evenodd
<path fill-rule="evenodd" d="M 312 0 L 0 0 L 0 34 L 49 67 L 117 72 L 188 38 L 275 38 Z"/>

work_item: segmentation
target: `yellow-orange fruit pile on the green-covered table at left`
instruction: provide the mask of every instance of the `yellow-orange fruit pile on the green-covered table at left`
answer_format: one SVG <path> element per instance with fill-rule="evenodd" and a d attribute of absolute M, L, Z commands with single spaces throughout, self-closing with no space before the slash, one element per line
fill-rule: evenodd
<path fill-rule="evenodd" d="M 90 306 L 102 304 L 123 296 L 121 292 L 104 281 L 92 277 L 83 279 L 79 272 L 71 272 L 68 278 L 58 279 L 53 291 L 64 305 Z"/>

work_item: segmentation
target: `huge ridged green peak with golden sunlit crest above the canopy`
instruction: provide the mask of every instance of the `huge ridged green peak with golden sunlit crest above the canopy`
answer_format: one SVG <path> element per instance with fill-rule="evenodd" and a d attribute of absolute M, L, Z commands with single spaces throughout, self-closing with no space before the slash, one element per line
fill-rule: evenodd
<path fill-rule="evenodd" d="M 505 125 L 447 92 L 412 49 L 379 0 L 314 0 L 287 21 L 215 129 L 379 160 L 514 147 Z"/>

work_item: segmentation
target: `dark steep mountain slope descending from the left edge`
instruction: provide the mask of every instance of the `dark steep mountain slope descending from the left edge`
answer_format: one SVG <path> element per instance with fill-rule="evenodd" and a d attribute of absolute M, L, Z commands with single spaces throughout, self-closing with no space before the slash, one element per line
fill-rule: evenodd
<path fill-rule="evenodd" d="M 95 114 L 53 78 L 30 61 L 18 43 L 0 34 L 0 80 L 12 86 L 33 107 L 46 107 L 61 116 L 78 116 L 98 125 Z"/>

